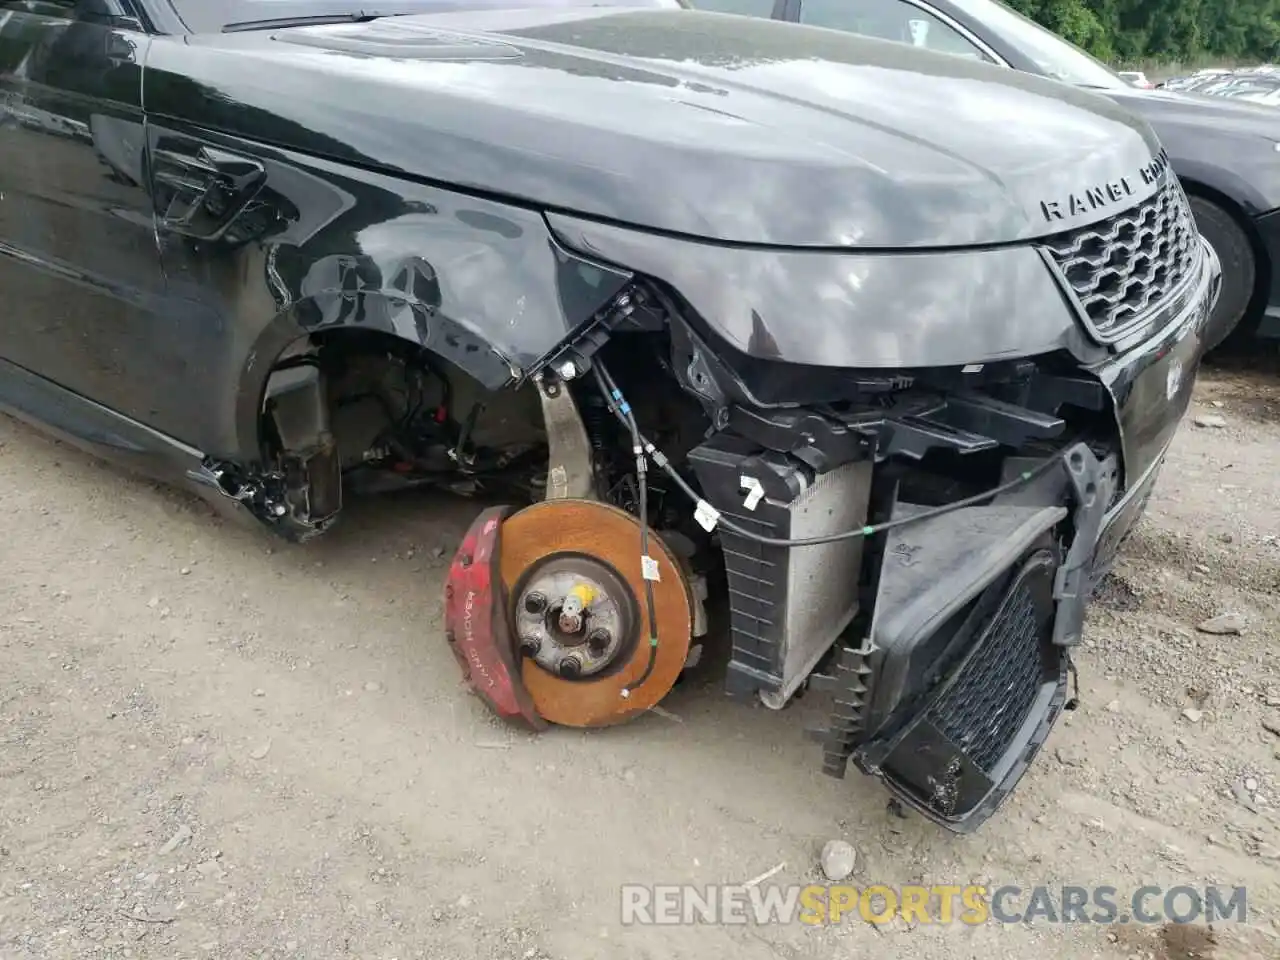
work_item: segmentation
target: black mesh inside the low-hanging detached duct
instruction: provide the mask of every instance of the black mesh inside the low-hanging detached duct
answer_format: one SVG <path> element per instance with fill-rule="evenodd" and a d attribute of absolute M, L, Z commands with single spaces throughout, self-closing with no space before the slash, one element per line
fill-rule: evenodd
<path fill-rule="evenodd" d="M 1043 680 L 1039 632 L 1036 600 L 1023 581 L 929 710 L 933 724 L 983 771 L 995 769 L 1036 701 Z"/>

